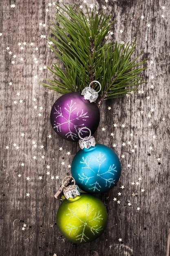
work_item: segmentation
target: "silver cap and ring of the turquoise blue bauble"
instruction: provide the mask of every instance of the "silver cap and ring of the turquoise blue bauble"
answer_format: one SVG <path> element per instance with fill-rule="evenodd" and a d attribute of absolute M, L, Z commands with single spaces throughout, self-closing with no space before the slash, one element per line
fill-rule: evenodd
<path fill-rule="evenodd" d="M 81 133 L 81 130 L 84 130 L 84 129 L 89 130 L 90 134 L 89 134 L 88 137 L 82 138 L 80 133 Z M 87 127 L 81 128 L 79 130 L 78 135 L 79 135 L 79 138 L 80 138 L 79 139 L 79 146 L 80 146 L 81 149 L 83 149 L 83 148 L 88 149 L 88 148 L 91 148 L 91 147 L 95 146 L 95 144 L 96 144 L 95 137 L 91 136 L 91 130 L 89 128 L 87 128 Z"/>

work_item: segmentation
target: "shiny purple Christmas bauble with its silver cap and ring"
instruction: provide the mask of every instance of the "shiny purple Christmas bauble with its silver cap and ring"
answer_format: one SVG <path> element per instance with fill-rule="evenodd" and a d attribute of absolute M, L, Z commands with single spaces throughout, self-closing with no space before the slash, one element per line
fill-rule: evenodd
<path fill-rule="evenodd" d="M 82 94 L 70 92 L 62 95 L 51 109 L 50 119 L 53 129 L 68 141 L 78 141 L 78 132 L 81 128 L 87 127 L 93 134 L 99 125 L 99 108 L 94 102 L 98 94 L 90 85 L 84 88 Z M 86 132 L 87 130 L 81 130 L 81 136 L 86 137 Z"/>

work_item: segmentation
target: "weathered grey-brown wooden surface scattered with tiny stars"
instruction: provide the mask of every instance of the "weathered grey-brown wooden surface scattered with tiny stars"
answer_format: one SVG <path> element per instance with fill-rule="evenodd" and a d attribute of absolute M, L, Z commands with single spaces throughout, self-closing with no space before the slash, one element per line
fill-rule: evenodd
<path fill-rule="evenodd" d="M 113 38 L 127 43 L 137 36 L 138 53 L 144 49 L 143 57 L 148 57 L 147 83 L 140 92 L 100 107 L 95 139 L 113 148 L 122 165 L 117 186 L 98 195 L 108 210 L 108 227 L 94 242 L 75 245 L 61 236 L 55 223 L 60 202 L 54 194 L 79 146 L 53 131 L 49 115 L 59 95 L 38 84 L 51 76 L 45 67 L 54 55 L 43 35 L 50 35 L 53 2 L 0 1 L 3 256 L 168 256 L 170 1 L 87 0 L 87 4 L 89 9 L 93 4 L 113 13 L 117 20 Z"/>

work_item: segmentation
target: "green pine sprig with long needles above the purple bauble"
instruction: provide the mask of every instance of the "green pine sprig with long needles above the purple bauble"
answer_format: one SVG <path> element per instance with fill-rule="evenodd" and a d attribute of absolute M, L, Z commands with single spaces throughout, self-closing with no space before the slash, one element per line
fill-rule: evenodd
<path fill-rule="evenodd" d="M 143 66 L 147 61 L 137 62 L 142 52 L 132 59 L 136 38 L 131 47 L 129 43 L 124 46 L 113 40 L 107 43 L 105 37 L 115 22 L 111 22 L 111 15 L 103 12 L 99 15 L 96 9 L 89 13 L 87 6 L 87 17 L 77 5 L 56 9 L 51 22 L 53 38 L 49 38 L 53 43 L 49 46 L 56 55 L 49 68 L 53 79 L 46 79 L 50 84 L 41 84 L 66 94 L 82 92 L 91 81 L 97 80 L 102 85 L 100 101 L 136 92 L 138 85 L 144 83 L 139 73 L 146 69 Z"/>

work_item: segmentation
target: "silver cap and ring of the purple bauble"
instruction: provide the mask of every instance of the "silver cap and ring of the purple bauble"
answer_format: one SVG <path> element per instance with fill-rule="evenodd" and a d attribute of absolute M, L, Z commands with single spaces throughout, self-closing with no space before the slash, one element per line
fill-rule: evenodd
<path fill-rule="evenodd" d="M 100 90 L 101 90 L 101 84 L 98 81 L 92 81 L 89 84 L 89 87 L 85 87 L 82 90 L 82 95 L 84 96 L 84 99 L 88 99 L 90 101 L 90 103 L 95 102 L 99 96 L 98 92 L 100 92 L 100 90 L 98 92 L 96 92 L 93 88 L 91 88 L 91 84 L 92 83 L 98 83 L 100 86 Z"/>

